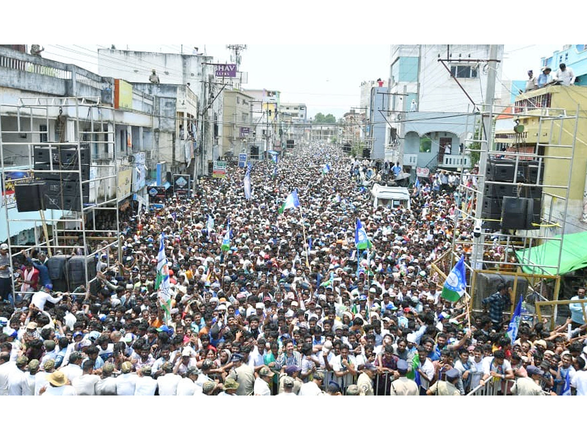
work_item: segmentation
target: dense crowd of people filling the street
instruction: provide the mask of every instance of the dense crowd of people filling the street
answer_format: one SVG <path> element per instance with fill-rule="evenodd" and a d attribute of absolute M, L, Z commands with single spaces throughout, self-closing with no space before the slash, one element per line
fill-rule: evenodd
<path fill-rule="evenodd" d="M 471 254 L 473 226 L 454 230 L 457 207 L 471 209 L 461 176 L 422 181 L 411 208 L 374 207 L 361 177 L 372 165 L 312 144 L 255 163 L 249 199 L 246 167 L 201 178 L 190 197 L 120 224 L 121 248 L 97 258 L 99 287 L 85 295 L 53 292 L 46 249 L 18 256 L 11 272 L 0 246 L 0 394 L 466 395 L 491 384 L 494 394 L 570 385 L 585 395 L 580 306 L 571 334 L 522 322 L 511 341 L 511 286 L 480 313 L 441 297 L 431 263 L 453 236 Z M 398 170 L 383 171 L 389 180 Z M 299 207 L 279 214 L 294 189 Z M 362 250 L 357 219 L 370 241 Z"/>

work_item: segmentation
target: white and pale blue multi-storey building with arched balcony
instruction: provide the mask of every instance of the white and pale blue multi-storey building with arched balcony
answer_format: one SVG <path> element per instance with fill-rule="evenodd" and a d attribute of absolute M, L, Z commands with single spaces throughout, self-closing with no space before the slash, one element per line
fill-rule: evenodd
<path fill-rule="evenodd" d="M 483 103 L 489 57 L 490 45 L 392 45 L 386 159 L 411 171 L 472 165 L 461 144 L 475 131 L 468 114 Z"/>

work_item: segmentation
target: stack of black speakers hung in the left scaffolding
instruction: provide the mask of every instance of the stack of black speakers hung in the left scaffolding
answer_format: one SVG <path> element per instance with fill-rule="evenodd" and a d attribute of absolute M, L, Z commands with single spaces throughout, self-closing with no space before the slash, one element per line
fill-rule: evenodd
<path fill-rule="evenodd" d="M 31 184 L 16 185 L 16 207 L 19 212 L 39 211 L 39 209 L 63 209 L 80 211 L 82 204 L 89 203 L 90 185 L 81 184 L 81 179 L 90 178 L 90 151 L 77 147 L 35 145 L 35 170 L 38 172 Z M 82 191 L 80 191 L 82 185 Z M 80 199 L 81 194 L 81 199 Z"/>

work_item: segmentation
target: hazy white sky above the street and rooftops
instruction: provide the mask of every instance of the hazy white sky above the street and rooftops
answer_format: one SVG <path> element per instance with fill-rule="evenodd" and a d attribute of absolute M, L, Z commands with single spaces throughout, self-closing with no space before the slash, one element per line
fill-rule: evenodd
<path fill-rule="evenodd" d="M 43 56 L 77 64 L 97 72 L 96 51 L 106 45 L 44 45 Z M 181 45 L 126 45 L 117 49 L 179 53 Z M 184 53 L 194 46 L 218 62 L 230 61 L 225 45 L 184 44 Z M 505 45 L 502 80 L 525 79 L 528 69 L 538 72 L 542 56 L 557 45 Z M 319 111 L 341 117 L 358 106 L 360 83 L 389 77 L 390 45 L 248 45 L 242 52 L 241 70 L 248 72 L 244 88 L 279 90 L 282 102 L 308 106 L 308 116 Z"/>

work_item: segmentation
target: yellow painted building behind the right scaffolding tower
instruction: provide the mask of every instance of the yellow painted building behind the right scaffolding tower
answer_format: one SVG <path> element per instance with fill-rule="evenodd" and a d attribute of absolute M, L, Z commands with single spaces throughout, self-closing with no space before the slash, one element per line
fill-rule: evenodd
<path fill-rule="evenodd" d="M 538 158 L 532 160 L 544 161 L 542 217 L 550 224 L 562 224 L 565 219 L 565 233 L 586 230 L 587 207 L 583 207 L 583 200 L 587 198 L 583 194 L 587 190 L 587 87 L 548 86 L 531 90 L 519 94 L 509 110 L 511 116 L 497 118 L 495 147 L 505 147 L 507 153 L 514 154 L 536 152 Z M 524 129 L 514 130 L 516 124 Z M 514 157 L 507 153 L 507 158 Z M 571 155 L 572 161 L 565 159 Z M 567 186 L 570 191 L 565 214 L 566 188 L 559 187 Z M 561 232 L 561 228 L 551 228 L 547 233 Z"/>

